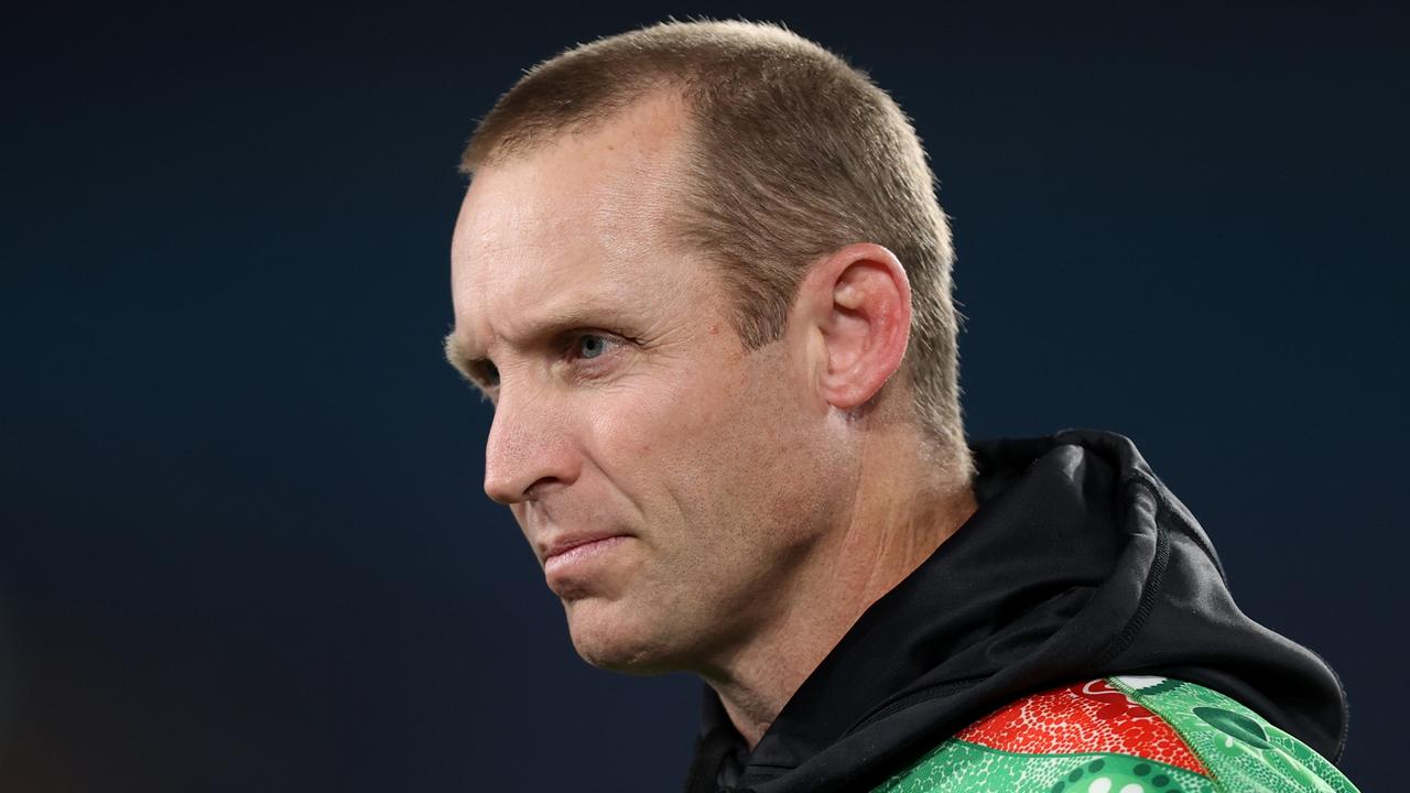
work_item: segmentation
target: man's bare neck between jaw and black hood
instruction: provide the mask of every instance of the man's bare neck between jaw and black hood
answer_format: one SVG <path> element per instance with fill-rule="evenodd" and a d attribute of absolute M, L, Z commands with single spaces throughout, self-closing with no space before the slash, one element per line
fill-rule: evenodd
<path fill-rule="evenodd" d="M 976 509 L 959 454 L 938 466 L 919 450 L 869 443 L 854 477 L 845 518 L 787 581 L 776 615 L 701 670 L 750 749 L 857 618 Z"/>

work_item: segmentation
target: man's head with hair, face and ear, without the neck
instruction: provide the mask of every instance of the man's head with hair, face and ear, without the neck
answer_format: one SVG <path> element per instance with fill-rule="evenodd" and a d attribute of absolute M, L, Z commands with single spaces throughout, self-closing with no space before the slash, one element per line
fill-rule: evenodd
<path fill-rule="evenodd" d="M 787 619 L 883 439 L 967 476 L 945 217 L 833 55 L 743 23 L 580 47 L 464 169 L 448 351 L 588 660 L 699 669 Z"/>

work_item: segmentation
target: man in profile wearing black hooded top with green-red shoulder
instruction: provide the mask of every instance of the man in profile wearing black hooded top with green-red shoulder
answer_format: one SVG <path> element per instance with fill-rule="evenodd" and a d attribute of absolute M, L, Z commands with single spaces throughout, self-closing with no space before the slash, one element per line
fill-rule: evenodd
<path fill-rule="evenodd" d="M 949 229 L 784 30 L 571 49 L 484 119 L 450 360 L 574 646 L 708 683 L 688 790 L 1351 790 L 1345 704 L 1128 440 L 966 444 Z"/>

